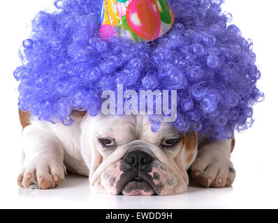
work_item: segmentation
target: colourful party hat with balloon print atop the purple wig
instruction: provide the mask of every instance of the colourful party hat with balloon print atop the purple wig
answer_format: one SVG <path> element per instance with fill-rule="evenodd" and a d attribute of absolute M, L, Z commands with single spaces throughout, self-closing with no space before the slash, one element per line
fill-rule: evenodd
<path fill-rule="evenodd" d="M 100 36 L 152 41 L 163 36 L 174 20 L 167 0 L 103 0 Z"/>

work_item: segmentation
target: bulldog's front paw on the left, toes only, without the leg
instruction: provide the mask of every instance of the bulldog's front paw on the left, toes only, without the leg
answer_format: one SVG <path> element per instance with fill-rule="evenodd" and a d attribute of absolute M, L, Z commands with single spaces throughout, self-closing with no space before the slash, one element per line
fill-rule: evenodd
<path fill-rule="evenodd" d="M 20 187 L 29 189 L 51 189 L 60 185 L 66 174 L 63 162 L 35 159 L 29 162 L 17 177 Z"/>

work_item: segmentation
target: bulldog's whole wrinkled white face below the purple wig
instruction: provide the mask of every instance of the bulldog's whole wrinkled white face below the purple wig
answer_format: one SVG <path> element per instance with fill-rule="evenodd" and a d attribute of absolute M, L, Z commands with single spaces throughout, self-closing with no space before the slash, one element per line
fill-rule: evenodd
<path fill-rule="evenodd" d="M 85 116 L 82 155 L 90 184 L 107 194 L 168 195 L 185 192 L 186 170 L 196 157 L 196 134 L 171 123 L 152 132 L 147 116 Z"/>

